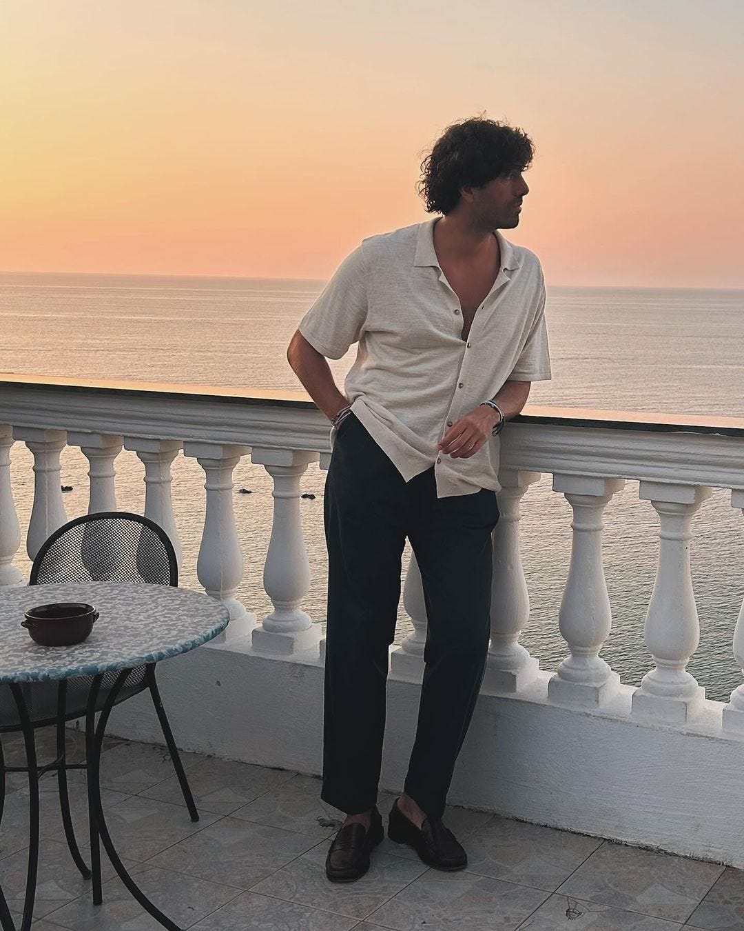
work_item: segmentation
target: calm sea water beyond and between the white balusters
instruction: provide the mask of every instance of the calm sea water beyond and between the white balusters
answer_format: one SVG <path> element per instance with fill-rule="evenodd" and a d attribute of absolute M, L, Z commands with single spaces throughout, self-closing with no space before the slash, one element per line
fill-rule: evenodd
<path fill-rule="evenodd" d="M 286 344 L 322 288 L 319 281 L 80 275 L 0 276 L 0 371 L 100 378 L 299 388 L 286 362 Z M 744 291 L 552 288 L 548 299 L 553 379 L 533 386 L 530 403 L 648 412 L 744 417 Z M 342 385 L 352 352 L 331 368 Z M 12 450 L 21 522 L 32 504 L 31 456 Z M 63 454 L 68 515 L 86 510 L 86 460 Z M 119 506 L 140 510 L 142 470 L 133 453 L 117 459 Z M 259 618 L 271 610 L 261 585 L 269 544 L 272 483 L 261 466 L 242 463 L 236 487 L 238 533 L 246 561 L 240 597 Z M 303 607 L 326 616 L 323 533 L 325 472 L 311 466 L 302 482 L 304 528 L 312 587 Z M 198 586 L 196 554 L 204 478 L 192 459 L 174 464 L 174 505 L 184 549 L 182 582 Z M 726 699 L 740 682 L 731 639 L 744 596 L 744 519 L 716 491 L 693 519 L 693 583 L 700 647 L 690 671 L 711 698 Z M 570 556 L 571 508 L 551 492 L 551 477 L 523 499 L 523 559 L 531 614 L 522 637 L 555 668 L 565 656 L 558 609 Z M 622 680 L 641 681 L 649 668 L 643 626 L 658 555 L 658 520 L 627 482 L 604 516 L 604 571 L 613 631 L 603 656 Z M 404 555 L 404 575 L 407 556 Z M 25 571 L 28 561 L 18 563 Z M 401 606 L 400 641 L 411 629 Z"/>

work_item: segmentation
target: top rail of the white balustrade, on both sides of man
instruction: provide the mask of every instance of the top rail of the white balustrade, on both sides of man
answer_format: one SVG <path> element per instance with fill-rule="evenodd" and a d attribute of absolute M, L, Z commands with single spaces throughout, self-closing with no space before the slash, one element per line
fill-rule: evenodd
<path fill-rule="evenodd" d="M 16 428 L 330 452 L 304 391 L 0 374 Z M 744 419 L 527 406 L 502 434 L 502 470 L 744 489 Z"/>

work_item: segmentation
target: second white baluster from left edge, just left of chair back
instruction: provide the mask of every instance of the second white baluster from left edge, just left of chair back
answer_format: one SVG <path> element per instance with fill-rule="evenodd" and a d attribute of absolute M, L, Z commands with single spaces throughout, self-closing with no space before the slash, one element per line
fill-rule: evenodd
<path fill-rule="evenodd" d="M 33 560 L 41 545 L 67 522 L 60 484 L 60 452 L 67 442 L 64 430 L 14 427 L 13 436 L 33 452 L 33 507 L 26 552 Z"/>

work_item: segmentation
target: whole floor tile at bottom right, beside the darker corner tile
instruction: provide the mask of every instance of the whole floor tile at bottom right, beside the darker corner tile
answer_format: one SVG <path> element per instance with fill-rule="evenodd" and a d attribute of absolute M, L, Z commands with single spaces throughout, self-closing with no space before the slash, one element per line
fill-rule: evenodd
<path fill-rule="evenodd" d="M 558 892 L 684 923 L 723 871 L 713 863 L 605 841 Z"/>

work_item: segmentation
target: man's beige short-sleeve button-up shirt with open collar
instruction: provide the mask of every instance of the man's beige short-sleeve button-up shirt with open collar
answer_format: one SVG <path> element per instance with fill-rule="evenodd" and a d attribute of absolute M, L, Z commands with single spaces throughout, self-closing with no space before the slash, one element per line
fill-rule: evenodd
<path fill-rule="evenodd" d="M 434 223 L 363 240 L 298 329 L 327 358 L 358 343 L 346 396 L 405 481 L 434 466 L 437 497 L 498 492 L 498 436 L 466 458 L 453 459 L 436 444 L 506 381 L 551 377 L 542 269 L 534 253 L 494 231 L 501 267 L 463 341 L 458 296 L 434 250 Z M 331 428 L 331 448 L 334 439 Z"/>

